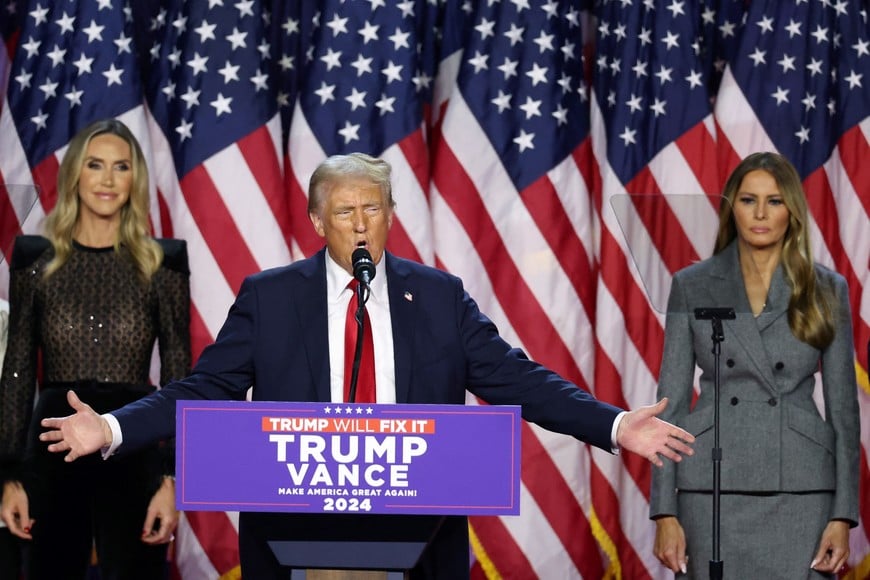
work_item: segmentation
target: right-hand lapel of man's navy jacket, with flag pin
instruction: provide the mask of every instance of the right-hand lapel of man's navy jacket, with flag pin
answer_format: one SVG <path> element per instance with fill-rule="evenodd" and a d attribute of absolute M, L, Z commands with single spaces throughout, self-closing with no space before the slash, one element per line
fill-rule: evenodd
<path fill-rule="evenodd" d="M 417 303 L 416 288 L 410 272 L 401 261 L 385 253 L 387 288 L 390 296 L 390 321 L 393 327 L 393 364 L 396 373 L 396 402 L 407 403 L 411 385 L 411 360 L 414 356 L 414 328 Z"/>

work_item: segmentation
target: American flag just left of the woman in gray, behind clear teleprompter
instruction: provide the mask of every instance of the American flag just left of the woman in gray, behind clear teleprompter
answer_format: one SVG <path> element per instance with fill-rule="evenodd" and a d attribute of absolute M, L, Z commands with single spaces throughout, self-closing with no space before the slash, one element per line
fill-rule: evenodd
<path fill-rule="evenodd" d="M 667 296 L 660 286 L 692 259 L 709 255 L 716 231 L 714 205 L 704 195 L 721 183 L 707 65 L 695 48 L 703 38 L 701 9 L 691 2 L 605 2 L 597 12 L 591 113 L 601 182 L 594 193 L 601 222 L 595 388 L 599 397 L 630 408 L 655 398 L 661 296 Z M 687 213 L 691 217 L 683 218 Z M 640 243 L 623 236 L 623 229 L 640 229 L 648 238 Z M 593 505 L 617 574 L 663 576 L 646 520 L 649 466 L 631 455 L 615 462 L 597 450 L 593 459 Z"/>

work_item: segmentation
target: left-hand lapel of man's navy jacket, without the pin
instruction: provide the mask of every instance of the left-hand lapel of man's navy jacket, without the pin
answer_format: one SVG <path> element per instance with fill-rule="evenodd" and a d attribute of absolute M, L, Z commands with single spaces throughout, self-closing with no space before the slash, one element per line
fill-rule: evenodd
<path fill-rule="evenodd" d="M 308 360 L 311 361 L 310 380 L 317 392 L 318 401 L 332 399 L 329 381 L 325 252 L 325 249 L 317 252 L 300 267 L 299 273 L 305 278 L 305 282 L 298 285 L 302 291 L 293 292 L 296 315 L 300 322 L 296 336 L 302 340 Z"/>

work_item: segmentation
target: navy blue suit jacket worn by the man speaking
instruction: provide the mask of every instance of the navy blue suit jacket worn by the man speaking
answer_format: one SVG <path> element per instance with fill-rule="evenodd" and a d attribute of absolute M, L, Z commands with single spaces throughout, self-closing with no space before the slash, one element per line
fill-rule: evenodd
<path fill-rule="evenodd" d="M 621 409 L 507 344 L 456 276 L 391 254 L 384 259 L 398 403 L 463 404 L 468 389 L 490 404 L 522 405 L 524 419 L 611 450 Z M 329 401 L 326 300 L 325 249 L 248 277 L 192 375 L 113 413 L 121 450 L 171 435 L 179 399 L 241 399 L 253 386 L 258 401 Z M 461 537 L 451 549 L 467 573 L 467 533 L 456 527 Z"/>

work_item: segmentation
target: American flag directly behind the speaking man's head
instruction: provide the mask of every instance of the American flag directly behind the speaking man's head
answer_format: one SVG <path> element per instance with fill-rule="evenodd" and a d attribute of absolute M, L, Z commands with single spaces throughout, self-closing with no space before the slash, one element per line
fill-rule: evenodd
<path fill-rule="evenodd" d="M 394 189 L 401 192 L 390 249 L 431 263 L 425 118 L 441 14 L 434 3 L 327 1 L 313 25 L 292 17 L 282 24 L 301 48 L 294 59 L 303 80 L 290 121 L 287 183 L 302 254 L 322 246 L 308 221 L 309 176 L 328 155 L 363 151 L 392 164 Z"/>

